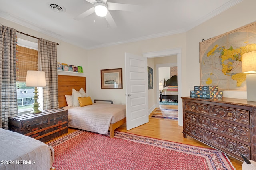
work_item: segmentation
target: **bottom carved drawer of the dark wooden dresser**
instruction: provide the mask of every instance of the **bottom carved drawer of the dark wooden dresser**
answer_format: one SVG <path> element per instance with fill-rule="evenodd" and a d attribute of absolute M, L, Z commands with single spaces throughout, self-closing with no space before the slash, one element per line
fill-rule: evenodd
<path fill-rule="evenodd" d="M 230 154 L 238 159 L 241 159 L 240 154 L 250 159 L 250 146 L 246 146 L 234 140 L 230 140 L 229 138 L 225 138 L 187 123 L 185 123 L 184 133 L 219 150 L 225 150 L 227 154 Z"/>

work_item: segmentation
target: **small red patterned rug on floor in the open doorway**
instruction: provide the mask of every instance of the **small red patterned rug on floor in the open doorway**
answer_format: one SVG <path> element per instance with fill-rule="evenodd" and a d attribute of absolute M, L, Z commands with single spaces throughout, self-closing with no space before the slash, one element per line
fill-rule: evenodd
<path fill-rule="evenodd" d="M 151 115 L 152 118 L 163 118 L 178 120 L 178 110 L 177 109 L 160 109 L 157 108 Z"/>

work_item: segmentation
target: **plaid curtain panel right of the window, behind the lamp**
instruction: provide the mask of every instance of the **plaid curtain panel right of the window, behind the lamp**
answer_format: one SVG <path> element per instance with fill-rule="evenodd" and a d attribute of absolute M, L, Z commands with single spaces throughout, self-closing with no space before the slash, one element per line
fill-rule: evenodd
<path fill-rule="evenodd" d="M 57 43 L 40 38 L 38 57 L 38 70 L 41 67 L 46 78 L 46 87 L 43 87 L 43 109 L 58 108 Z"/>

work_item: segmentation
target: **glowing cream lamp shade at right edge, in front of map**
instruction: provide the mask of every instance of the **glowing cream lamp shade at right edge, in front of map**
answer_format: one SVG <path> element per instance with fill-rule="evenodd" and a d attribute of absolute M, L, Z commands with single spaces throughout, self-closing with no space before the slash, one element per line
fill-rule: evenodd
<path fill-rule="evenodd" d="M 242 73 L 256 73 L 256 51 L 243 55 Z"/>

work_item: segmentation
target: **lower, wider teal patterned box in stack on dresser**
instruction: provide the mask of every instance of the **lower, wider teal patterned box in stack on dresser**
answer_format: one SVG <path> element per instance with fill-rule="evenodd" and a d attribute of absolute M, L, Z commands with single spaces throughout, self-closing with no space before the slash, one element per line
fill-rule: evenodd
<path fill-rule="evenodd" d="M 190 97 L 199 97 L 206 99 L 217 99 L 223 97 L 222 91 L 203 91 L 203 90 L 190 90 Z"/>

